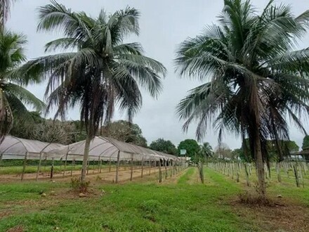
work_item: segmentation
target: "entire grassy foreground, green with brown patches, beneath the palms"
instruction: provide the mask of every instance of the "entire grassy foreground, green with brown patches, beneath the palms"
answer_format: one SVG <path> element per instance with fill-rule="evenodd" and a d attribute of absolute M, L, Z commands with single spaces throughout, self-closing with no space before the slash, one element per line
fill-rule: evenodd
<path fill-rule="evenodd" d="M 277 205 L 242 205 L 237 195 L 252 188 L 204 172 L 204 185 L 195 167 L 161 184 L 155 176 L 118 185 L 93 178 L 86 198 L 64 181 L 4 183 L 0 231 L 309 231 L 309 188 L 274 181 Z"/>

